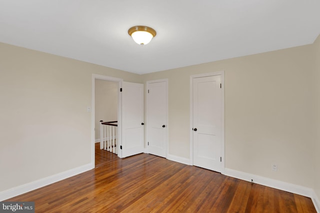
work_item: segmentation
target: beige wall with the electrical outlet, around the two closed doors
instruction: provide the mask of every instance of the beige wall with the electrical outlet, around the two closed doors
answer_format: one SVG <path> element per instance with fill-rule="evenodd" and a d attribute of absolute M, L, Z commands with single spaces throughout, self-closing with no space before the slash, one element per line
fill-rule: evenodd
<path fill-rule="evenodd" d="M 168 78 L 169 154 L 189 158 L 190 75 L 224 70 L 225 167 L 312 188 L 311 54 L 306 45 L 143 75 Z"/>

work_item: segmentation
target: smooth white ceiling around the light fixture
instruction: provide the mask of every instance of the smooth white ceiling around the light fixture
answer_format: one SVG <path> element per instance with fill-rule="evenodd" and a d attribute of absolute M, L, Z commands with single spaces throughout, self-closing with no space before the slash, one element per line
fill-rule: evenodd
<path fill-rule="evenodd" d="M 157 35 L 139 46 L 134 25 Z M 320 0 L 0 0 L 0 42 L 149 73 L 312 43 Z"/>

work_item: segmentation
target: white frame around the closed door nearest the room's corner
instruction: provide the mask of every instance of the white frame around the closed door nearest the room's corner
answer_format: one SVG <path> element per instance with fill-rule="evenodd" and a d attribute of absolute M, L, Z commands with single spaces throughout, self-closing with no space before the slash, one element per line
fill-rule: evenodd
<path fill-rule="evenodd" d="M 168 134 L 169 134 L 169 126 L 168 126 L 168 79 L 167 78 L 163 78 L 163 79 L 157 79 L 157 80 L 150 80 L 150 81 L 146 81 L 146 89 L 145 89 L 145 117 L 146 117 L 146 130 L 145 130 L 145 141 L 144 141 L 144 147 L 146 147 L 145 149 L 145 153 L 149 153 L 148 150 L 148 146 L 147 146 L 147 141 L 148 141 L 148 95 L 147 95 L 147 91 L 149 89 L 149 84 L 150 83 L 158 83 L 158 82 L 165 82 L 166 83 L 166 88 L 165 88 L 165 96 L 166 96 L 166 106 L 165 106 L 165 110 L 166 110 L 166 124 L 165 124 L 165 158 L 167 158 L 168 156 Z"/>

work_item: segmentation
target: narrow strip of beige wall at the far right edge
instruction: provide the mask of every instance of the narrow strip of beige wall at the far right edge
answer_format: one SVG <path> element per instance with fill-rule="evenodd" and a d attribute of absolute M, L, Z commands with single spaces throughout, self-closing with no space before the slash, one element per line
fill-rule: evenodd
<path fill-rule="evenodd" d="M 314 191 L 320 199 L 320 35 L 314 42 L 314 95 L 315 95 L 315 143 L 314 143 Z"/>

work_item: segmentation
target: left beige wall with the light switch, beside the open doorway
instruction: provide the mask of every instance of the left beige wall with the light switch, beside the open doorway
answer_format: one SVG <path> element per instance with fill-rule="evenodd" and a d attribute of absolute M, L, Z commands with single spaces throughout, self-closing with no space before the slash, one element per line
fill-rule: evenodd
<path fill-rule="evenodd" d="M 92 73 L 116 69 L 0 43 L 0 191 L 91 162 Z"/>

